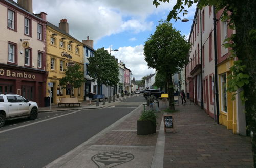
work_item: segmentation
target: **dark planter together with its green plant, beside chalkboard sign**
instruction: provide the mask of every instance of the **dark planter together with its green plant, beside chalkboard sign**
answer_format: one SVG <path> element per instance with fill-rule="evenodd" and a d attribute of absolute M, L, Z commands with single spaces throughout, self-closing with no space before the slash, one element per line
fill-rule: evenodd
<path fill-rule="evenodd" d="M 137 120 L 137 135 L 156 133 L 156 118 L 155 111 L 142 111 L 139 120 Z"/>

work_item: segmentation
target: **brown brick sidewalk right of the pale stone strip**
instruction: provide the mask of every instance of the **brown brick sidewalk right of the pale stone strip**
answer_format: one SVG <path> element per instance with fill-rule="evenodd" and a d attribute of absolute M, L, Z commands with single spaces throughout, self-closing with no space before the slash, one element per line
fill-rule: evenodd
<path fill-rule="evenodd" d="M 249 137 L 232 134 L 197 105 L 175 106 L 165 135 L 164 167 L 253 167 Z"/>

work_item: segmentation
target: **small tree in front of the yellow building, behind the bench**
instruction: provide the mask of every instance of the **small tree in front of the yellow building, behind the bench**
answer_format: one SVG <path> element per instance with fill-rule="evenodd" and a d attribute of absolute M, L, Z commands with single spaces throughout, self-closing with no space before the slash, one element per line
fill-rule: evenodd
<path fill-rule="evenodd" d="M 79 88 L 82 86 L 84 79 L 84 74 L 82 71 L 80 71 L 81 67 L 76 63 L 75 65 L 68 66 L 67 69 L 65 69 L 65 77 L 62 77 L 59 80 L 60 86 L 63 88 L 70 88 L 71 93 L 74 88 Z M 70 94 L 71 97 L 72 94 Z"/>

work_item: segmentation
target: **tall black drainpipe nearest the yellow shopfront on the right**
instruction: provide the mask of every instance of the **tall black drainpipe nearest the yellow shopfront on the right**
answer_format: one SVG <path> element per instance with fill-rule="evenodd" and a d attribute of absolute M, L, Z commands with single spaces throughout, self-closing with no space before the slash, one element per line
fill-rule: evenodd
<path fill-rule="evenodd" d="M 217 73 L 217 37 L 216 37 L 216 14 L 215 6 L 213 6 L 214 14 L 214 77 L 215 77 L 215 99 L 216 99 L 216 112 L 217 112 L 217 123 L 219 124 L 220 108 L 219 108 L 219 93 L 218 93 L 218 73 Z"/>

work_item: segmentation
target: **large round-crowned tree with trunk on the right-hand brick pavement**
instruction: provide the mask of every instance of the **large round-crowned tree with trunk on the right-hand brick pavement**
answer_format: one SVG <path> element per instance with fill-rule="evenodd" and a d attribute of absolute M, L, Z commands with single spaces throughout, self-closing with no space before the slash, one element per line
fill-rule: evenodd
<path fill-rule="evenodd" d="M 168 83 L 169 109 L 174 107 L 174 87 L 172 74 L 179 72 L 185 65 L 190 44 L 185 36 L 173 28 L 172 23 L 160 21 L 156 31 L 144 45 L 144 55 L 148 67 L 155 68 L 165 75 Z"/>

